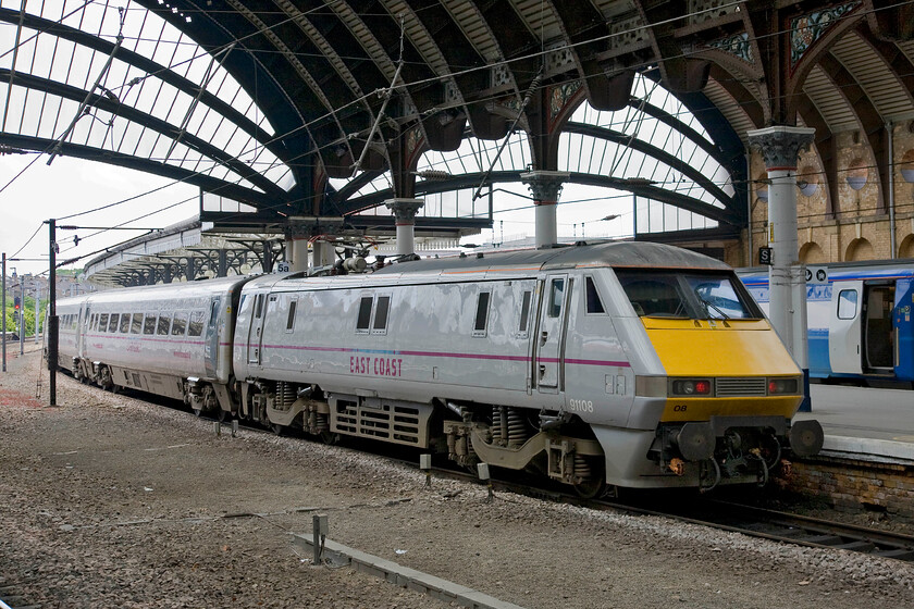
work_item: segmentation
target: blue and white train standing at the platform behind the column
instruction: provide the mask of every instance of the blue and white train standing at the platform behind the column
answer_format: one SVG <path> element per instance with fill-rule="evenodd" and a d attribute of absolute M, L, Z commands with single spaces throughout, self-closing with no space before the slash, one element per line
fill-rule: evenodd
<path fill-rule="evenodd" d="M 914 260 L 820 265 L 806 286 L 810 377 L 914 388 Z M 768 274 L 738 275 L 767 311 Z"/>

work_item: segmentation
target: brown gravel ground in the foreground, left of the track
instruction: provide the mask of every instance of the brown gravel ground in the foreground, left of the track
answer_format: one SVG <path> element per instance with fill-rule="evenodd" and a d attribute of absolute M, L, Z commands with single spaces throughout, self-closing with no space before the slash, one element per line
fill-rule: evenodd
<path fill-rule="evenodd" d="M 447 607 L 291 543 L 341 544 L 523 607 L 914 608 L 914 566 L 555 505 L 58 375 L 0 375 L 0 591 L 45 607 Z M 47 394 L 47 371 L 41 371 Z M 2 592 L 0 592 L 2 594 Z"/>

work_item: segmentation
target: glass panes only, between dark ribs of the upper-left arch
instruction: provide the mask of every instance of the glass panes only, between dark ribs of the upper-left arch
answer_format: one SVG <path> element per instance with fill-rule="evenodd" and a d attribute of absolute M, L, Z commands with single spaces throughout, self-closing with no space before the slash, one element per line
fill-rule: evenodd
<path fill-rule="evenodd" d="M 4 9 L 18 11 L 21 5 L 20 1 L 0 0 L 0 7 Z M 26 3 L 25 10 L 110 44 L 115 44 L 119 34 L 123 34 L 122 48 L 125 51 L 150 59 L 188 82 L 186 90 L 182 90 L 163 80 L 160 76 L 164 74 L 147 73 L 128 63 L 132 59 L 128 52 L 121 52 L 106 69 L 109 63 L 107 52 L 61 38 L 58 36 L 60 29 L 36 32 L 23 27 L 16 48 L 16 25 L 0 24 L 0 67 L 14 69 L 15 74 L 30 74 L 75 89 L 64 97 L 58 92 L 26 90 L 15 82 L 15 77 L 12 87 L 9 83 L 1 84 L 0 95 L 4 104 L 10 107 L 3 123 L 5 132 L 60 138 L 79 113 L 86 91 L 98 80 L 100 88 L 95 92 L 110 101 L 164 121 L 174 130 L 183 128 L 188 135 L 212 142 L 231 156 L 243 157 L 249 162 L 256 159 L 260 167 L 269 167 L 268 177 L 288 182 L 288 167 L 284 167 L 272 152 L 207 105 L 205 98 L 197 99 L 197 89 L 202 86 L 260 126 L 268 137 L 274 135 L 272 125 L 255 101 L 220 66 L 224 54 L 213 59 L 161 17 L 136 5 L 119 10 L 112 4 L 84 0 L 33 0 Z M 206 160 L 184 144 L 175 145 L 171 137 L 132 121 L 95 107 L 91 100 L 75 121 L 66 140 L 158 161 L 164 161 L 168 156 L 169 163 L 185 169 L 206 167 L 208 174 L 251 187 L 234 171 L 227 167 L 217 171 L 217 163 L 212 160 Z M 168 154 L 172 147 L 172 153 Z"/>

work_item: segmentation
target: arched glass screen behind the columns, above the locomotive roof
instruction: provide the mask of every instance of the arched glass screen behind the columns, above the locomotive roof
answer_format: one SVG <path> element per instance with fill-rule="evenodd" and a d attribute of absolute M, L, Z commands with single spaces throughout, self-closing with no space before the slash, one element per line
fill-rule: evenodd
<path fill-rule="evenodd" d="M 477 186 L 492 170 L 494 220 L 507 219 L 511 233 L 532 232 L 532 201 L 520 183 L 519 174 L 532 164 L 526 134 L 516 132 L 508 137 L 502 154 L 502 140 L 481 140 L 467 133 L 457 150 L 427 151 L 417 165 L 417 173 L 439 172 L 446 175 L 452 188 L 429 188 L 430 181 L 419 182 L 417 192 L 425 207 L 419 217 L 484 217 L 489 213 L 489 187 L 477 192 Z M 717 145 L 694 114 L 658 83 L 637 75 L 629 105 L 615 112 L 598 111 L 586 101 L 580 103 L 564 127 L 558 148 L 558 171 L 571 177 L 564 186 L 559 200 L 559 231 L 579 236 L 584 223 L 594 220 L 594 212 L 575 211 L 594 201 L 612 202 L 621 221 L 621 234 L 659 233 L 718 226 L 708 213 L 732 204 L 736 190 L 732 178 L 720 162 Z M 607 179 L 612 178 L 612 179 Z M 615 182 L 613 182 L 615 179 Z M 650 185 L 653 196 L 635 196 L 620 189 L 620 182 L 637 181 Z M 331 181 L 342 188 L 349 179 Z M 390 173 L 380 174 L 361 186 L 348 200 L 368 197 L 379 202 L 378 195 L 391 192 Z M 481 195 L 481 197 L 477 197 Z M 665 198 L 668 197 L 668 198 Z M 520 199 L 528 199 L 523 202 Z M 678 204 L 679 201 L 688 203 Z M 575 208 L 575 209 L 572 209 Z M 361 215 L 391 215 L 385 207 L 373 207 Z M 598 220 L 598 219 L 597 219 Z M 529 225 L 529 226 L 527 226 Z M 619 231 L 617 231 L 617 234 Z"/>

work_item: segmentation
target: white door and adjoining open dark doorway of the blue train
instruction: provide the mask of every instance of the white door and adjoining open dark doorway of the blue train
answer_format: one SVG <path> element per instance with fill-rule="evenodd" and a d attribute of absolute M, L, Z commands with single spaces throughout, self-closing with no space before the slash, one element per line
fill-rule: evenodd
<path fill-rule="evenodd" d="M 894 375 L 893 281 L 838 281 L 831 286 L 828 357 L 836 374 Z"/>

